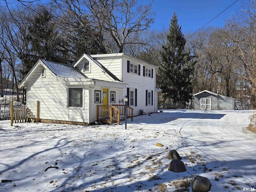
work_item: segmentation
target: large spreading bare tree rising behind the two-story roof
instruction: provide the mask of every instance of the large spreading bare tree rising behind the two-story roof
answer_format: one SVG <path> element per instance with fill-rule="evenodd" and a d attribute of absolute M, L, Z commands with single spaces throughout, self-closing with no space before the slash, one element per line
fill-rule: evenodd
<path fill-rule="evenodd" d="M 82 27 L 92 26 L 103 53 L 123 52 L 132 36 L 146 30 L 154 22 L 151 4 L 137 6 L 137 0 L 54 0 L 60 11 L 72 14 Z M 92 36 L 93 37 L 93 36 Z M 109 43 L 111 37 L 118 50 Z M 106 39 L 105 39 L 106 38 Z M 105 49 L 105 50 L 104 50 Z"/>

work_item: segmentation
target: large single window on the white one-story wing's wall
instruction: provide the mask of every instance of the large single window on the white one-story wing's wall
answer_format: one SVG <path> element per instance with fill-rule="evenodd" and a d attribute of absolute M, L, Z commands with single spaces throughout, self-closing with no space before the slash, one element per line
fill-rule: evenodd
<path fill-rule="evenodd" d="M 83 88 L 69 88 L 68 89 L 68 106 L 82 107 L 83 106 Z"/>

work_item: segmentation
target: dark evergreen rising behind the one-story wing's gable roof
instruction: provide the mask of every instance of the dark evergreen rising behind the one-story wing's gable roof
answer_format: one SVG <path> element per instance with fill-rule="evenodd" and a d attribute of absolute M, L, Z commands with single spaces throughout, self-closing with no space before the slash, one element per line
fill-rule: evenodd
<path fill-rule="evenodd" d="M 44 6 L 39 6 L 38 14 L 28 26 L 28 39 L 30 40 L 33 64 L 38 59 L 67 63 L 68 52 L 65 49 L 67 42 L 62 38 L 60 32 L 61 30 L 55 25 L 50 10 Z"/>

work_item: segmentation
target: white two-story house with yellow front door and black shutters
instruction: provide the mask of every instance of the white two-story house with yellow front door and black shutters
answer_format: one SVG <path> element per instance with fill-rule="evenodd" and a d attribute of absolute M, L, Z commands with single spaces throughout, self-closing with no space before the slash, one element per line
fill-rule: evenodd
<path fill-rule="evenodd" d="M 74 66 L 38 60 L 20 87 L 26 88 L 30 113 L 41 122 L 88 124 L 114 117 L 118 109 L 122 114 L 124 96 L 134 116 L 157 112 L 156 69 L 124 53 L 84 54 Z"/>

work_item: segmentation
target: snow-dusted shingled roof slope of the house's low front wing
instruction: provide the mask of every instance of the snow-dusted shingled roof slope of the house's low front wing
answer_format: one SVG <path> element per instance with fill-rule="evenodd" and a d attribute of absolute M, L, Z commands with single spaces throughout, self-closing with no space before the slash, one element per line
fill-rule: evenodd
<path fill-rule="evenodd" d="M 78 68 L 71 65 L 42 60 L 42 62 L 59 77 L 87 78 Z"/>

